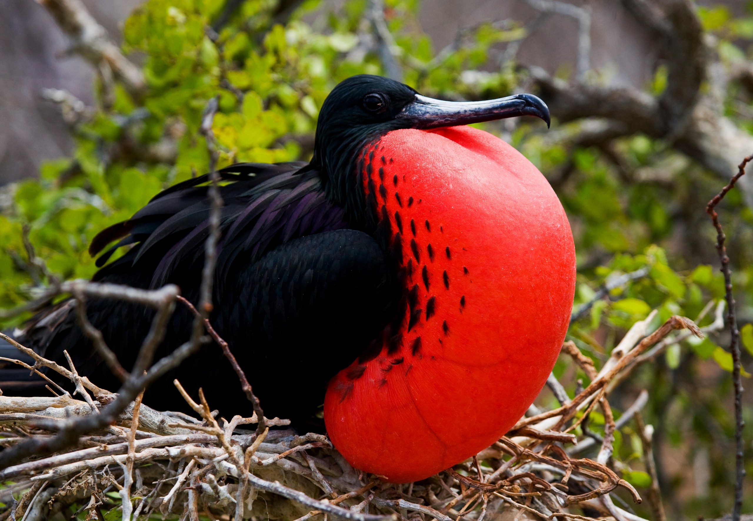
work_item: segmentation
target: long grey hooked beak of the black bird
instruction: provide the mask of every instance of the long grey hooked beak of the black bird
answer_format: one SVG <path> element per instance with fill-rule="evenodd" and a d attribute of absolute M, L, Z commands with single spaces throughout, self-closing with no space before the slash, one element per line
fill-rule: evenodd
<path fill-rule="evenodd" d="M 507 117 L 535 116 L 550 125 L 549 108 L 532 94 L 516 94 L 488 101 L 442 101 L 416 94 L 416 100 L 396 116 L 410 120 L 414 129 L 468 125 Z"/>

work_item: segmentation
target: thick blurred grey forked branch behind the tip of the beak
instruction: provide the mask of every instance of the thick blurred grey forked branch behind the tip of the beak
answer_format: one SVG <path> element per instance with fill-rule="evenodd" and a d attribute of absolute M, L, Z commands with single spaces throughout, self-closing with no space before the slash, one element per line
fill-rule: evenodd
<path fill-rule="evenodd" d="M 630 134 L 663 140 L 667 147 L 699 162 L 720 177 L 736 170 L 739 158 L 753 150 L 753 136 L 724 115 L 720 89 L 702 91 L 703 80 L 712 87 L 729 78 L 753 78 L 753 65 L 735 65 L 727 71 L 715 48 L 704 40 L 694 6 L 689 0 L 623 0 L 657 39 L 660 59 L 667 68 L 667 86 L 660 95 L 631 87 L 568 83 L 543 69 L 529 68 L 544 101 L 560 122 L 606 118 L 626 126 Z M 750 82 L 749 82 L 750 83 Z M 740 183 L 748 206 L 753 207 L 753 183 Z"/>

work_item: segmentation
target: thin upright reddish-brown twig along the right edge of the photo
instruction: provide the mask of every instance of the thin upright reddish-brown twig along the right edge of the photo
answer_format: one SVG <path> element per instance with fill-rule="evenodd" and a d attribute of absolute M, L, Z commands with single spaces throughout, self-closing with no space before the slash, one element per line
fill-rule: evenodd
<path fill-rule="evenodd" d="M 727 326 L 730 328 L 730 353 L 732 353 L 732 382 L 735 391 L 735 503 L 732 510 L 733 521 L 739 521 L 740 511 L 742 510 L 742 481 L 745 479 L 745 460 L 744 447 L 742 440 L 742 429 L 745 423 L 742 421 L 742 378 L 740 377 L 740 333 L 737 330 L 737 317 L 735 315 L 735 297 L 732 292 L 732 271 L 730 269 L 730 257 L 727 256 L 727 248 L 724 247 L 726 236 L 719 223 L 719 215 L 716 213 L 716 206 L 734 188 L 735 183 L 740 177 L 745 175 L 745 166 L 753 160 L 753 155 L 747 156 L 738 165 L 737 174 L 735 174 L 729 183 L 721 189 L 717 195 L 706 205 L 706 214 L 711 217 L 714 228 L 716 229 L 716 251 L 721 261 L 720 271 L 724 274 L 724 298 L 727 301 Z"/>

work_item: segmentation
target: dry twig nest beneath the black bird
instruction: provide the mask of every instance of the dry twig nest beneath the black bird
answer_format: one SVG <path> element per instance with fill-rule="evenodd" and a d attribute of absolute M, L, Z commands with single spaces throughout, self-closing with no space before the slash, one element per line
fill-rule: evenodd
<path fill-rule="evenodd" d="M 103 285 L 81 284 L 80 292 L 101 293 L 106 289 Z M 75 294 L 75 288 L 69 290 Z M 175 292 L 160 291 L 179 298 Z M 145 293 L 154 297 L 155 292 Z M 160 302 L 155 300 L 154 305 L 166 306 Z M 234 362 L 227 344 L 194 312 L 197 322 L 204 323 L 206 332 Z M 717 314 L 721 317 L 721 307 Z M 268 419 L 263 413 L 250 418 L 234 416 L 229 421 L 218 419 L 201 390 L 197 397 L 191 397 L 177 380 L 175 385 L 195 411 L 194 416 L 160 412 L 141 404 L 143 387 L 136 386 L 135 375 L 126 373 L 123 388 L 116 395 L 80 377 L 72 364 L 70 369 L 62 368 L 16 344 L 35 359 L 35 364 L 5 359 L 7 362 L 23 365 L 43 377 L 42 367 L 57 371 L 76 387 L 73 395 L 83 399 L 73 398 L 49 379 L 53 396 L 0 396 L 0 429 L 5 436 L 0 439 L 4 447 L 0 466 L 5 467 L 0 471 L 5 483 L 0 501 L 6 505 L 0 521 L 8 517 L 39 521 L 74 516 L 105 521 L 117 517 L 144 519 L 155 514 L 180 521 L 198 521 L 200 516 L 228 521 L 305 521 L 314 516 L 325 521 L 328 517 L 353 521 L 483 521 L 508 516 L 642 519 L 612 501 L 610 492 L 618 487 L 626 489 L 636 503 L 641 498 L 608 464 L 614 430 L 636 414 L 647 396 L 643 392 L 615 422 L 607 395 L 651 355 L 649 348 L 653 347 L 655 353 L 682 335 L 700 335 L 690 320 L 672 317 L 645 336 L 653 316 L 633 326 L 598 373 L 575 344 L 566 343 L 563 352 L 572 356 L 590 379 L 585 389 L 569 399 L 550 377 L 548 383 L 561 407 L 542 411 L 532 406 L 508 435 L 477 456 L 410 484 L 384 483 L 379 477 L 352 468 L 326 436 L 300 435 L 287 428 L 288 420 Z M 675 329 L 687 331 L 665 338 Z M 201 335 L 197 338 L 207 341 Z M 144 378 L 160 364 L 164 365 L 164 359 Z M 242 370 L 237 364 L 234 367 L 255 410 L 261 411 Z M 136 399 L 120 407 L 117 416 L 106 423 L 93 423 L 117 410 L 114 404 L 129 393 L 136 394 Z M 605 416 L 602 439 L 585 428 L 594 407 Z M 82 428 L 87 421 L 90 423 Z M 243 428 L 254 425 L 256 429 Z M 573 433 L 579 425 L 588 435 Z M 67 444 L 60 442 L 61 438 L 66 438 Z M 595 459 L 578 456 L 597 447 Z"/>

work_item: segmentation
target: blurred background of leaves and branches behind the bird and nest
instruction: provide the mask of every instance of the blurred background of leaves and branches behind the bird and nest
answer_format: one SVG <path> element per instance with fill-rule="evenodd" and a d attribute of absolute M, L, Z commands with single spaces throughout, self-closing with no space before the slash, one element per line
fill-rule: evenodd
<path fill-rule="evenodd" d="M 568 338 L 598 368 L 651 310 L 654 327 L 672 314 L 706 327 L 703 341 L 665 343 L 610 400 L 619 415 L 648 391 L 669 519 L 721 516 L 733 500 L 733 362 L 705 207 L 753 153 L 751 43 L 742 0 L 0 0 L 0 307 L 44 282 L 27 265 L 27 238 L 53 273 L 90 277 L 96 232 L 203 173 L 197 127 L 214 95 L 224 165 L 307 159 L 322 101 L 351 74 L 447 99 L 534 92 L 550 105 L 549 131 L 518 120 L 482 128 L 534 162 L 569 214 L 578 291 Z M 753 373 L 751 208 L 743 177 L 720 216 Z M 571 396 L 587 385 L 568 359 L 555 374 Z M 538 402 L 554 399 L 544 389 Z M 644 494 L 633 423 L 615 448 L 613 468 Z M 645 504 L 630 507 L 651 518 Z M 753 512 L 750 479 L 743 511 Z"/>

